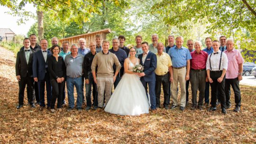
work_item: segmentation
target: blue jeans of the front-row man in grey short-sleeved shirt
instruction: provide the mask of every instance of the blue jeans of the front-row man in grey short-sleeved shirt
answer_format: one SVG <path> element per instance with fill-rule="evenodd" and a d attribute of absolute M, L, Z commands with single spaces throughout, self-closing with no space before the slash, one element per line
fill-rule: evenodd
<path fill-rule="evenodd" d="M 74 108 L 74 86 L 77 92 L 76 108 L 82 108 L 82 77 L 67 76 L 68 106 Z"/>

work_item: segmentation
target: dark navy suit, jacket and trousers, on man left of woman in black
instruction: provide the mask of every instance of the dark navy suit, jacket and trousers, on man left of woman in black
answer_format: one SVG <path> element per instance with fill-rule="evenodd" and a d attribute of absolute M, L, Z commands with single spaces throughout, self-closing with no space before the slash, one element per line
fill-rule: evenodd
<path fill-rule="evenodd" d="M 47 50 L 47 57 L 52 55 L 49 50 Z M 47 58 L 48 59 L 48 58 Z M 45 83 L 47 91 L 47 107 L 50 107 L 50 101 L 52 99 L 52 87 L 50 83 L 50 76 L 48 71 L 47 60 L 45 62 L 43 52 L 38 50 L 34 54 L 33 58 L 33 77 L 38 80 L 38 93 L 40 107 L 45 107 Z"/>

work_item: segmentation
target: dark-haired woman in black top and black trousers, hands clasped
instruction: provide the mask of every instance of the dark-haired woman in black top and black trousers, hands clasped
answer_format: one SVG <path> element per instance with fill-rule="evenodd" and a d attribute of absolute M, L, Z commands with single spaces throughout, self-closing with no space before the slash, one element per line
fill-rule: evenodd
<path fill-rule="evenodd" d="M 54 107 L 57 98 L 57 108 L 61 108 L 62 105 L 62 93 L 66 78 L 66 66 L 63 57 L 59 56 L 59 45 L 53 45 L 51 47 L 51 52 L 53 55 L 49 56 L 47 61 L 48 69 L 50 72 L 50 80 L 53 88 L 53 97 L 51 99 L 51 112 L 55 112 Z"/>

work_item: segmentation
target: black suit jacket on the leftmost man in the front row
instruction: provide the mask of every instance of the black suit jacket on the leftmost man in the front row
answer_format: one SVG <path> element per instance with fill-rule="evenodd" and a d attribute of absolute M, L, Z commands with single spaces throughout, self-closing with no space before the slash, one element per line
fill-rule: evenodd
<path fill-rule="evenodd" d="M 17 53 L 17 59 L 15 64 L 16 76 L 20 75 L 21 77 L 27 77 L 27 74 L 28 74 L 29 77 L 33 77 L 33 70 L 32 70 L 33 54 L 34 54 L 34 51 L 30 50 L 30 55 L 29 55 L 28 64 L 27 64 L 25 50 L 24 49 L 20 50 Z"/>

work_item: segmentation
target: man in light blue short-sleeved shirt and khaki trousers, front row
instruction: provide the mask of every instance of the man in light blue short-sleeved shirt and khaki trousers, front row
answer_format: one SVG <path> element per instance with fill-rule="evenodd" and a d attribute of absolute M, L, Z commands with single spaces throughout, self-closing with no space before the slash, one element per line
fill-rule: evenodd
<path fill-rule="evenodd" d="M 183 47 L 183 37 L 178 36 L 175 39 L 176 46 L 169 49 L 168 54 L 170 55 L 173 63 L 173 82 L 172 82 L 172 101 L 173 106 L 171 108 L 176 108 L 179 106 L 177 101 L 177 87 L 180 83 L 181 88 L 181 104 L 180 109 L 184 110 L 186 105 L 186 81 L 189 80 L 190 71 L 190 59 L 191 54 L 189 50 Z"/>

